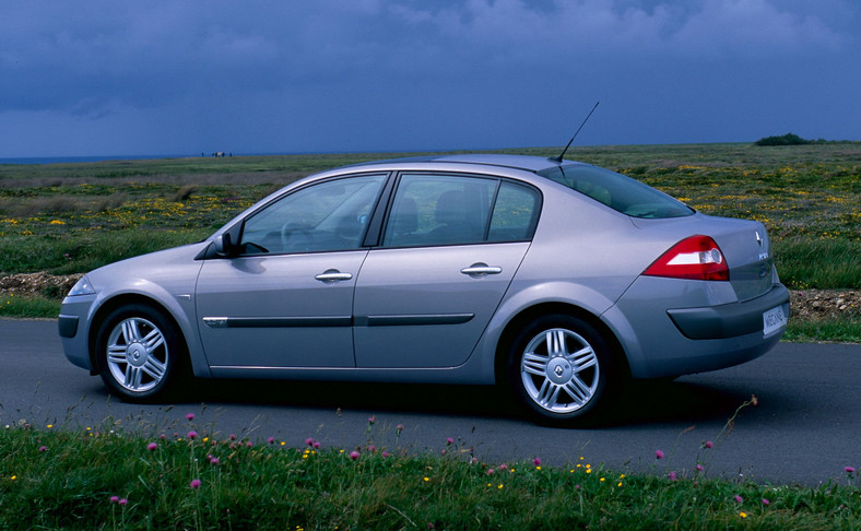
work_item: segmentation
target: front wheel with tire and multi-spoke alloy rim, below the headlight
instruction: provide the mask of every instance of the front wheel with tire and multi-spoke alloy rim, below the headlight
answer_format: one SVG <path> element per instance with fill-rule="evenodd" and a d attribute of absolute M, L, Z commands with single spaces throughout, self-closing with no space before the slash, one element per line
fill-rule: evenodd
<path fill-rule="evenodd" d="M 105 386 L 128 402 L 164 400 L 179 388 L 188 359 L 182 335 L 162 311 L 129 305 L 111 311 L 96 338 Z"/>

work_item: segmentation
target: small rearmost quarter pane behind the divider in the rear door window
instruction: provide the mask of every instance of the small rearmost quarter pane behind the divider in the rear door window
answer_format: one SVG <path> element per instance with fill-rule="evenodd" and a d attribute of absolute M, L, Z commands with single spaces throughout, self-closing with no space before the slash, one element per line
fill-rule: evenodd
<path fill-rule="evenodd" d="M 538 223 L 539 194 L 535 190 L 503 182 L 491 219 L 488 241 L 530 239 Z"/>

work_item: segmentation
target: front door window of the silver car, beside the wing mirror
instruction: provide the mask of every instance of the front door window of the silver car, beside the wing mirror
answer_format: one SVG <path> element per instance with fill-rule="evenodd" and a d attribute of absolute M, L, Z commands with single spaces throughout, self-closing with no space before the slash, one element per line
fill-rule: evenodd
<path fill-rule="evenodd" d="M 302 188 L 246 220 L 245 253 L 357 249 L 385 175 L 328 180 Z"/>

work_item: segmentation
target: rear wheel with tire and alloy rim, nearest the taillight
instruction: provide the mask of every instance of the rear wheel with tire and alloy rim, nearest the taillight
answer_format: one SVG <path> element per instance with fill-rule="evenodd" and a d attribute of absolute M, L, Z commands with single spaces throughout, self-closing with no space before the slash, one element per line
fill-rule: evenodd
<path fill-rule="evenodd" d="M 587 321 L 542 316 L 511 342 L 508 384 L 527 413 L 542 424 L 586 426 L 608 409 L 617 381 L 606 341 Z"/>

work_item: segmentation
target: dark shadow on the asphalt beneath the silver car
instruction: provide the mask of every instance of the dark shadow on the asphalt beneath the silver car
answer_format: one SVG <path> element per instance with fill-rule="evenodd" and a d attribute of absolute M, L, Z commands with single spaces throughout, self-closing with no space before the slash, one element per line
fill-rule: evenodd
<path fill-rule="evenodd" d="M 594 427 L 726 421 L 744 400 L 736 389 L 687 381 L 630 382 Z M 189 402 L 257 404 L 342 411 L 409 412 L 528 422 L 519 404 L 495 386 L 359 384 L 293 380 L 199 380 Z"/>

